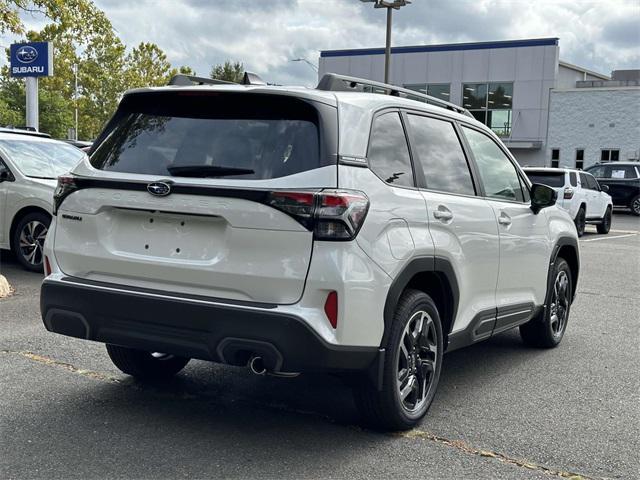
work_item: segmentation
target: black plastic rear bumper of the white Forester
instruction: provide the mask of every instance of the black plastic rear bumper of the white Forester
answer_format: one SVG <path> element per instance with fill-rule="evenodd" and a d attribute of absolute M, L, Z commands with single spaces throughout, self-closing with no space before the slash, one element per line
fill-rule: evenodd
<path fill-rule="evenodd" d="M 226 304 L 78 279 L 45 279 L 47 330 L 71 337 L 189 358 L 245 365 L 264 358 L 273 371 L 375 368 L 376 347 L 327 343 L 301 318 L 270 305 Z"/>

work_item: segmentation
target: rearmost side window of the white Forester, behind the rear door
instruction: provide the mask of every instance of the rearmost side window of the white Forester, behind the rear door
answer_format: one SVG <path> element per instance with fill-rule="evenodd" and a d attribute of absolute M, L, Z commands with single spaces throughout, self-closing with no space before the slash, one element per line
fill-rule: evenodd
<path fill-rule="evenodd" d="M 409 146 L 398 112 L 385 113 L 374 120 L 367 156 L 371 170 L 385 182 L 414 186 Z"/>

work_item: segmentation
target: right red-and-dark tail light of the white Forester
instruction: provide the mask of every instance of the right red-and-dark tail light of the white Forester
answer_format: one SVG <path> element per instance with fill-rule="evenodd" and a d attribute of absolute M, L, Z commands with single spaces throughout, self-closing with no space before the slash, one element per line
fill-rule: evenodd
<path fill-rule="evenodd" d="M 316 240 L 330 241 L 353 240 L 369 210 L 364 193 L 347 190 L 271 192 L 267 203 L 312 230 Z"/>

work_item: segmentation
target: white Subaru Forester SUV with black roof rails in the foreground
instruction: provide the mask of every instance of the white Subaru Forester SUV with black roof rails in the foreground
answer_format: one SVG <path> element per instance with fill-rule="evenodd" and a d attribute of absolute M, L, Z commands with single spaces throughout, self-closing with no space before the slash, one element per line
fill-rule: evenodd
<path fill-rule="evenodd" d="M 555 199 L 465 110 L 390 85 L 133 90 L 59 179 L 42 318 L 139 378 L 343 374 L 406 429 L 445 352 L 560 343 L 579 250 Z"/>

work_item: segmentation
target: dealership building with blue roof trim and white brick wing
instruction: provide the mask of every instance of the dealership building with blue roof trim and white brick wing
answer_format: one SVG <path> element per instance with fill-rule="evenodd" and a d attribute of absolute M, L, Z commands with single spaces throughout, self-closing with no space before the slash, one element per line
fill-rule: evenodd
<path fill-rule="evenodd" d="M 559 53 L 557 38 L 394 47 L 389 81 L 465 107 L 522 165 L 638 159 L 634 71 L 612 79 Z M 322 51 L 319 70 L 382 81 L 384 49 Z"/>

